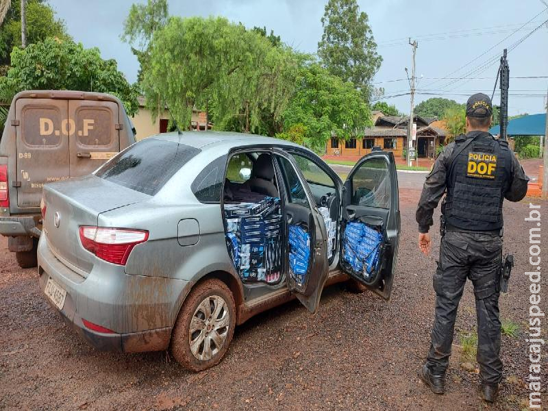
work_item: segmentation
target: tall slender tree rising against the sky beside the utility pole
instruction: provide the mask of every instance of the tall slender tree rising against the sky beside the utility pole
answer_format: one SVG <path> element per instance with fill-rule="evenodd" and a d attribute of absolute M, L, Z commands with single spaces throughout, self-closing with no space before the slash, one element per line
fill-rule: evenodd
<path fill-rule="evenodd" d="M 360 12 L 356 0 L 329 0 L 321 23 L 323 35 L 318 43 L 321 64 L 344 82 L 352 82 L 369 101 L 371 79 L 382 63 L 369 17 Z"/>

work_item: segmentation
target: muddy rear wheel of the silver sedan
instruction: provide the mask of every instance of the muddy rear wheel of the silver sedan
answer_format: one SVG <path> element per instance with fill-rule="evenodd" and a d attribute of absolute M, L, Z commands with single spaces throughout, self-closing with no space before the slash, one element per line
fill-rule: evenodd
<path fill-rule="evenodd" d="M 235 327 L 232 292 L 221 280 L 208 279 L 195 286 L 183 303 L 171 335 L 171 354 L 186 369 L 208 369 L 225 356 Z"/>

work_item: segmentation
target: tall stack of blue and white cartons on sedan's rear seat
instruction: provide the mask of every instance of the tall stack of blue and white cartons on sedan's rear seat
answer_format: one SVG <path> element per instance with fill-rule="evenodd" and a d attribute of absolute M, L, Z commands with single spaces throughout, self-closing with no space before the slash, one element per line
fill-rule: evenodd
<path fill-rule="evenodd" d="M 245 282 L 277 282 L 282 269 L 279 199 L 225 204 L 229 255 Z"/>

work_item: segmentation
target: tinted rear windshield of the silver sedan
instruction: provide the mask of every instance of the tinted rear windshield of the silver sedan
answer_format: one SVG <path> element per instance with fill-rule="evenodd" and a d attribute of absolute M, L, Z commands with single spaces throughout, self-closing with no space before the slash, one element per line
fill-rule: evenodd
<path fill-rule="evenodd" d="M 97 177 L 155 195 L 201 150 L 177 142 L 149 138 L 116 155 L 97 170 Z"/>

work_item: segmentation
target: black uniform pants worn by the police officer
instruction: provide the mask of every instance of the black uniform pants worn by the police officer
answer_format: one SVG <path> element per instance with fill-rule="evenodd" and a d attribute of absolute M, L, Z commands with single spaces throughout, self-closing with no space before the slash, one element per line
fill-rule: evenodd
<path fill-rule="evenodd" d="M 440 261 L 434 274 L 436 319 L 427 365 L 433 374 L 443 374 L 449 364 L 458 303 L 466 278 L 474 286 L 477 314 L 477 363 L 484 384 L 502 379 L 499 357 L 501 323 L 499 284 L 502 240 L 497 235 L 447 232 L 440 245 Z"/>

